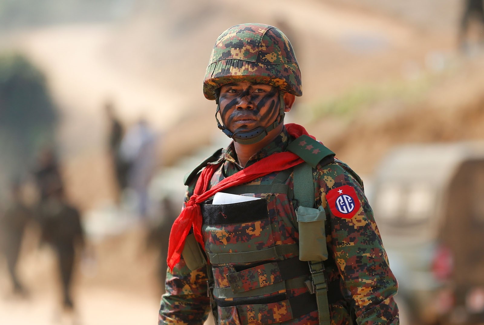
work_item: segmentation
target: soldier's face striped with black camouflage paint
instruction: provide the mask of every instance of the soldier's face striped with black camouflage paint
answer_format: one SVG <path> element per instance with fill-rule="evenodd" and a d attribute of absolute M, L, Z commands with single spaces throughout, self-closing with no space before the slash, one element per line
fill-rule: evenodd
<path fill-rule="evenodd" d="M 277 88 L 267 84 L 238 82 L 220 88 L 220 116 L 231 132 L 268 127 L 279 116 Z"/>

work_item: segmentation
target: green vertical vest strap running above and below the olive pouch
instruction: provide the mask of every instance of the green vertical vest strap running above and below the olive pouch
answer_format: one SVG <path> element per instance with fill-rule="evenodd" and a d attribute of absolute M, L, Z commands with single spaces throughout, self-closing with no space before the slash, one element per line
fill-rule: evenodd
<path fill-rule="evenodd" d="M 294 167 L 294 198 L 299 206 L 305 208 L 314 207 L 315 182 L 313 179 L 313 168 L 307 163 Z M 324 278 L 324 264 L 322 261 L 309 262 L 311 276 L 313 279 L 313 291 L 316 293 L 318 304 L 319 325 L 331 324 L 330 306 L 328 302 L 328 285 Z"/>

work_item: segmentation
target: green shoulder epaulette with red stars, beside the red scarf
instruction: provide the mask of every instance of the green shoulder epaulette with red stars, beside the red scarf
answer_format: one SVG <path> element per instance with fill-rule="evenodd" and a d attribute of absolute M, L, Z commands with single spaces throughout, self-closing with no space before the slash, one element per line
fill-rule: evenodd
<path fill-rule="evenodd" d="M 287 151 L 300 156 L 312 168 L 316 168 L 320 162 L 323 165 L 332 163 L 335 155 L 333 151 L 326 148 L 321 142 L 307 135 L 302 135 L 289 143 Z"/>

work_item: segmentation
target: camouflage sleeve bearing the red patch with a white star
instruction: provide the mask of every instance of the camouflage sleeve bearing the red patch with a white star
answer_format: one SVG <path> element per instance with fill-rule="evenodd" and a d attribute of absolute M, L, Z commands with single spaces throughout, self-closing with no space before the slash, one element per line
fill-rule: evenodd
<path fill-rule="evenodd" d="M 360 178 L 340 162 L 326 165 L 317 173 L 320 203 L 329 219 L 329 254 L 354 301 L 357 324 L 398 324 L 398 308 L 393 299 L 398 284 Z M 348 189 L 342 187 L 345 185 L 354 189 L 355 196 L 355 204 L 349 199 L 346 208 L 344 198 L 338 197 L 340 189 Z M 332 194 L 328 194 L 331 190 Z M 334 195 L 339 203 L 330 199 Z M 355 211 L 348 213 L 352 207 Z"/>

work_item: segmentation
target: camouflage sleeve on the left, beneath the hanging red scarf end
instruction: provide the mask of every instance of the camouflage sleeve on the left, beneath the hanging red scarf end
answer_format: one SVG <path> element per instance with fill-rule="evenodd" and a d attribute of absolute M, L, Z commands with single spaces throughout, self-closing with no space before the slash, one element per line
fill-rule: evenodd
<path fill-rule="evenodd" d="M 195 184 L 188 187 L 185 202 L 194 187 Z M 161 297 L 158 325 L 202 325 L 210 312 L 207 283 L 207 267 L 191 271 L 181 256 L 173 271 L 166 270 L 165 294 Z"/>

